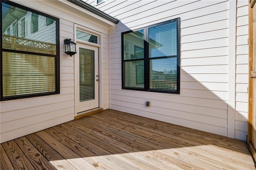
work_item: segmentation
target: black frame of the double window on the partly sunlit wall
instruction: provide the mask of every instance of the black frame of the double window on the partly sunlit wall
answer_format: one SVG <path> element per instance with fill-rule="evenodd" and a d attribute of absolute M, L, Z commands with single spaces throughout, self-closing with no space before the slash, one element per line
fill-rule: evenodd
<path fill-rule="evenodd" d="M 149 43 L 147 40 L 145 40 L 145 37 L 148 38 L 148 29 L 154 26 L 160 26 L 162 24 L 167 24 L 170 22 L 176 22 L 177 23 L 177 89 L 176 90 L 165 90 L 165 89 L 150 89 L 150 58 L 149 58 Z M 144 34 L 147 34 L 146 36 L 144 35 L 144 88 L 138 88 L 138 87 L 125 87 L 125 66 L 124 63 L 125 61 L 130 61 L 124 60 L 124 34 L 135 32 L 138 30 L 144 30 Z M 126 32 L 121 33 L 121 54 L 122 54 L 122 89 L 126 90 L 136 90 L 136 91 L 148 91 L 148 92 L 158 92 L 158 93 L 172 93 L 172 94 L 180 94 L 180 18 L 175 18 L 172 20 L 160 22 L 157 24 L 152 24 L 150 26 L 136 29 L 136 30 L 129 30 Z M 153 59 L 153 58 L 151 58 Z M 140 59 L 135 59 L 135 60 L 140 60 Z M 131 60 L 132 61 L 132 60 Z"/>

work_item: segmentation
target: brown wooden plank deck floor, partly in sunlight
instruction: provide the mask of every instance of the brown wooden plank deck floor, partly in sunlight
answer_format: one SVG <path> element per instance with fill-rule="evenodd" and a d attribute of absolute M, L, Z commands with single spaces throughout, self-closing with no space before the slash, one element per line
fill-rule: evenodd
<path fill-rule="evenodd" d="M 1 170 L 252 170 L 246 142 L 114 110 L 0 144 Z"/>

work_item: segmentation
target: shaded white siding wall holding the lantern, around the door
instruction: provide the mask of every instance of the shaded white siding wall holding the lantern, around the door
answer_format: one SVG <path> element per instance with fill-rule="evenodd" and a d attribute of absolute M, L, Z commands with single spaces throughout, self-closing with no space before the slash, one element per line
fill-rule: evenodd
<path fill-rule="evenodd" d="M 103 73 L 102 107 L 109 108 L 108 26 L 85 18 L 81 12 L 80 14 L 68 12 L 65 4 L 58 6 L 51 2 L 57 3 L 57 1 L 16 1 L 18 4 L 60 18 L 60 94 L 1 101 L 0 143 L 74 120 L 74 57 L 78 56 L 70 57 L 64 53 L 64 39 L 74 40 L 74 24 L 86 26 L 102 35 L 102 59 L 100 60 Z"/>

